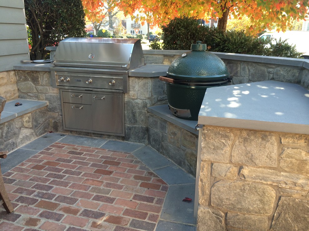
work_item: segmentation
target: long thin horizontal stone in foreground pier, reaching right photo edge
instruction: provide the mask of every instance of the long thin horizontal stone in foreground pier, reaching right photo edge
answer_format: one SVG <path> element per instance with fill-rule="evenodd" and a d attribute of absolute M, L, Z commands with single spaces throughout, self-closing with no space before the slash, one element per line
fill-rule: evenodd
<path fill-rule="evenodd" d="M 246 181 L 261 182 L 285 188 L 309 189 L 309 177 L 302 174 L 243 166 L 240 169 L 239 176 Z"/>

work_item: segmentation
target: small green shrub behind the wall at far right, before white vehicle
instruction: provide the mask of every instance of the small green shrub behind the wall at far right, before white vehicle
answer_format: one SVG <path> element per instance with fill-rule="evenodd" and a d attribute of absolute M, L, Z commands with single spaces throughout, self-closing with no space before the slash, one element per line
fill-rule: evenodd
<path fill-rule="evenodd" d="M 296 50 L 296 45 L 292 46 L 287 40 L 274 39 L 270 41 L 270 47 L 266 49 L 265 55 L 287 58 L 299 58 L 303 53 Z"/>

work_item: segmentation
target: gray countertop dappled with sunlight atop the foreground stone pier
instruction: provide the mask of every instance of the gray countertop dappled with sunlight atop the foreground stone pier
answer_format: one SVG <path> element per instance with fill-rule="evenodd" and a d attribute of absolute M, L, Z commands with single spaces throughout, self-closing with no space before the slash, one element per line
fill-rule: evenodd
<path fill-rule="evenodd" d="M 262 81 L 208 88 L 198 123 L 309 134 L 309 91 L 287 82 Z"/>

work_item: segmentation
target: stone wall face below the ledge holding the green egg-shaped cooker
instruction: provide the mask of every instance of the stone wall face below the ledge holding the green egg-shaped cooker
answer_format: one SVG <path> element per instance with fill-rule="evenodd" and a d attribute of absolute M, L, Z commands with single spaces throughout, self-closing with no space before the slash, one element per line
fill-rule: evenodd
<path fill-rule="evenodd" d="M 150 113 L 148 126 L 148 144 L 195 177 L 198 135 Z"/>

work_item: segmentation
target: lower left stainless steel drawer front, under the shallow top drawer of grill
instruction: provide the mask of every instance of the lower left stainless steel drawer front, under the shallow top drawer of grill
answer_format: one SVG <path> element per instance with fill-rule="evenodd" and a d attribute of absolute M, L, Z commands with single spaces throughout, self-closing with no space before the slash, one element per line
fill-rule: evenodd
<path fill-rule="evenodd" d="M 92 130 L 91 105 L 63 103 L 65 127 Z"/>

